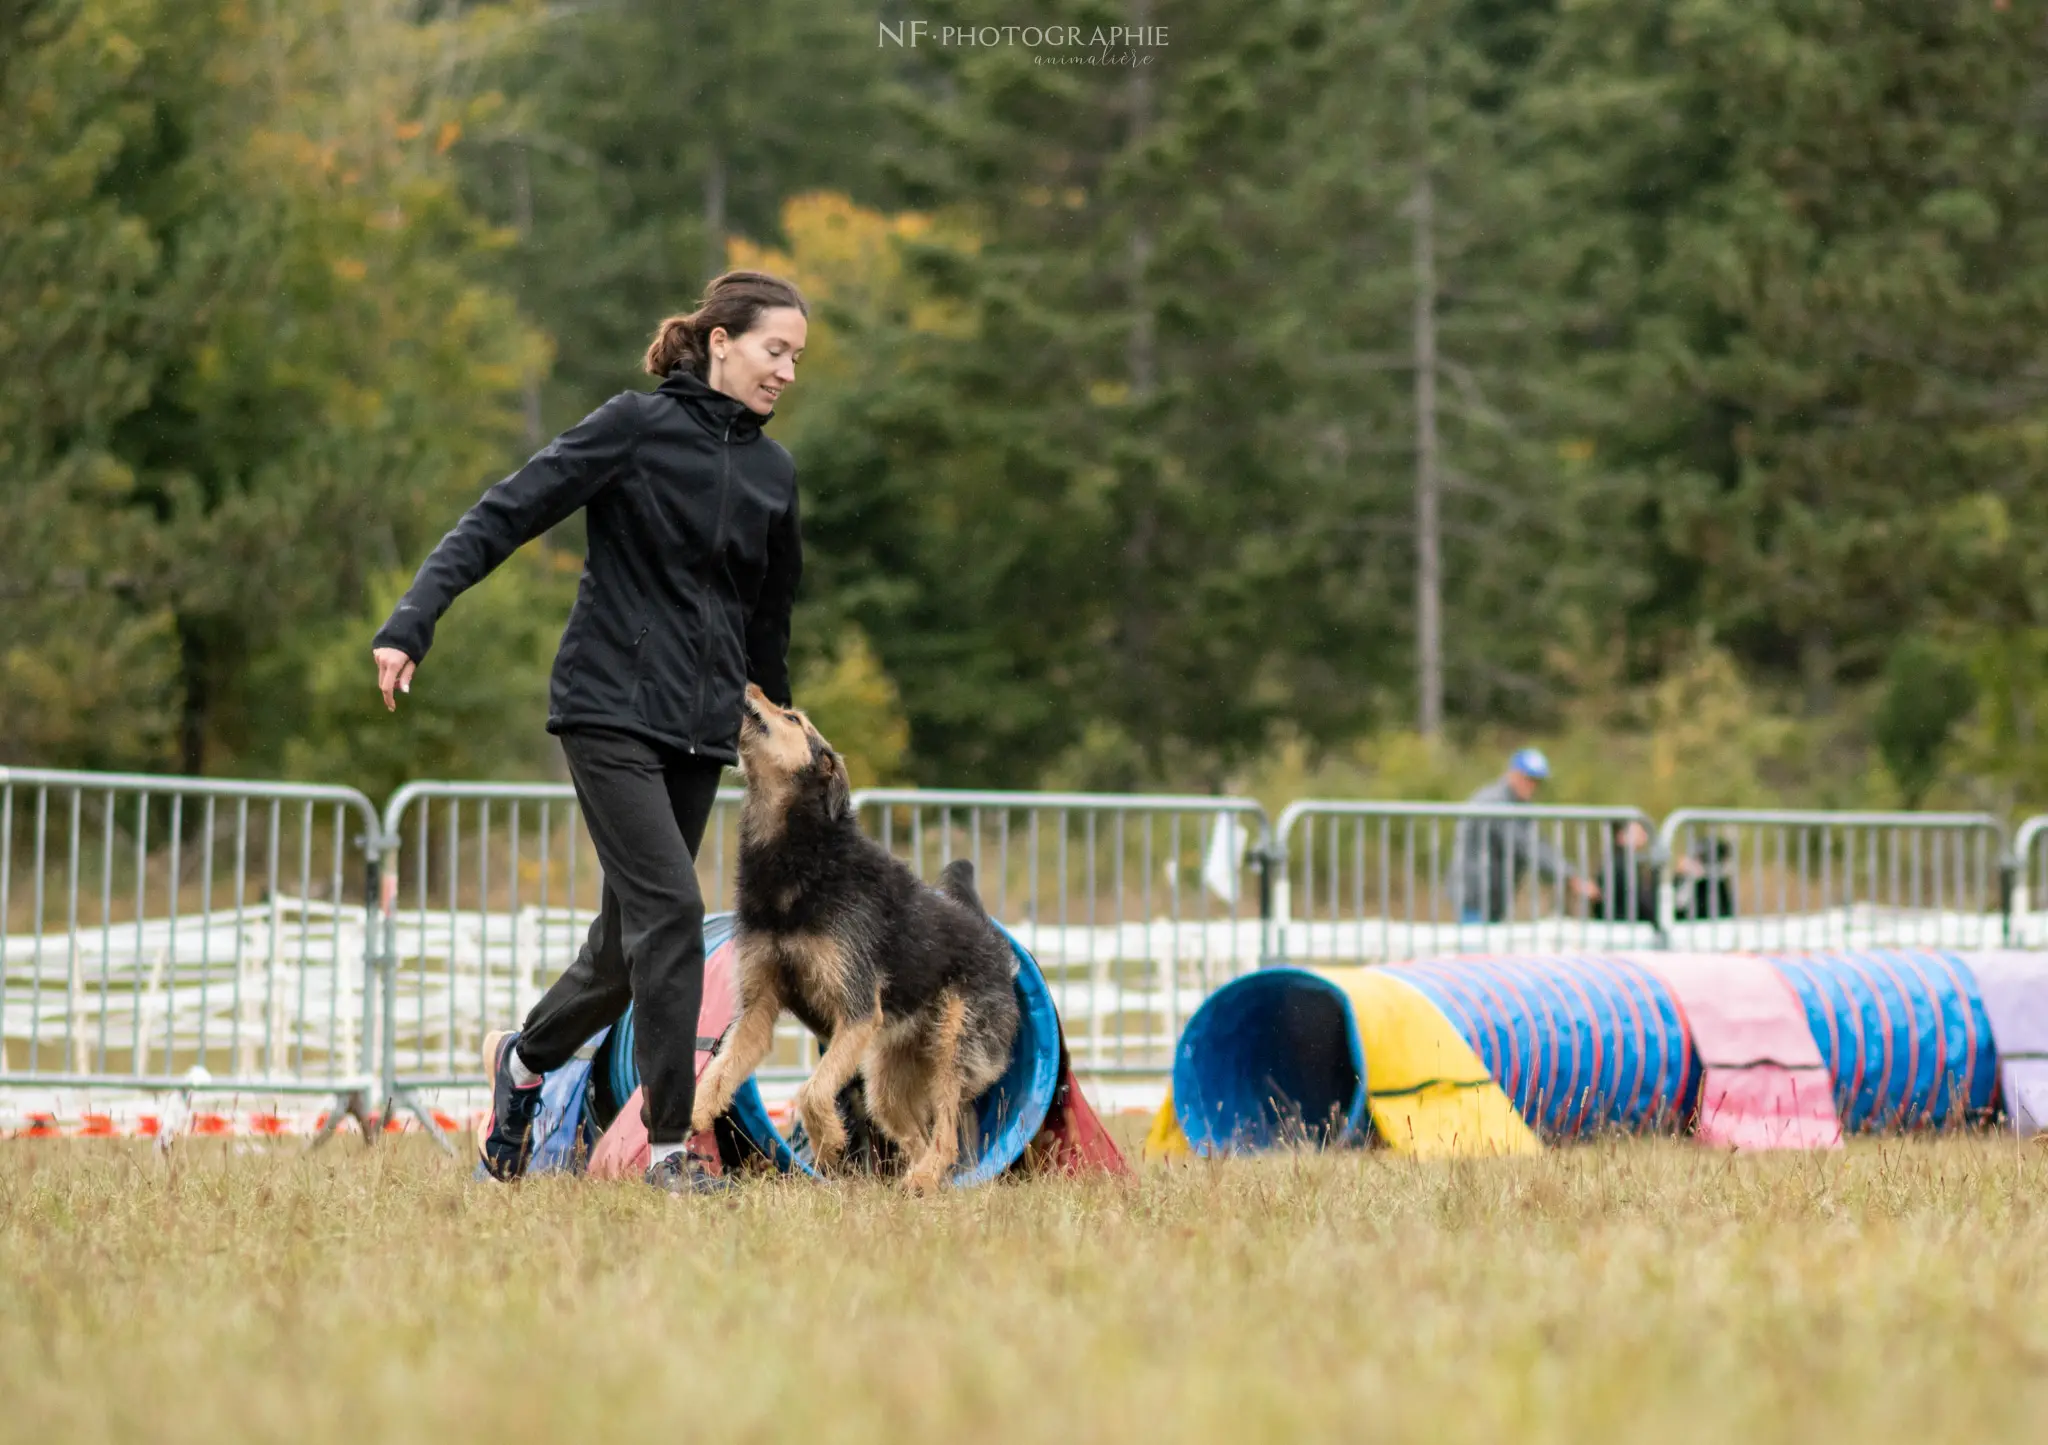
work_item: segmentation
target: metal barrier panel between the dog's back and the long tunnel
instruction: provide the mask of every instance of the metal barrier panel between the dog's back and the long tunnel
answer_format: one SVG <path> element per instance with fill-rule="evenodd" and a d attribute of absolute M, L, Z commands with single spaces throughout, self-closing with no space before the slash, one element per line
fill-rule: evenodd
<path fill-rule="evenodd" d="M 1266 952 L 1272 829 L 1249 798 L 868 788 L 854 806 L 920 878 L 975 864 L 1092 1075 L 1167 1068 L 1188 1013 Z"/>

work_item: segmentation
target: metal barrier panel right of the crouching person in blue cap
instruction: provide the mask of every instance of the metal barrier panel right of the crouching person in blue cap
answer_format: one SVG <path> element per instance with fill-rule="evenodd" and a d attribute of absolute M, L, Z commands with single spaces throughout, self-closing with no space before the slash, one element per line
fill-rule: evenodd
<path fill-rule="evenodd" d="M 1657 856 L 1671 948 L 2005 942 L 2005 829 L 1989 813 L 1679 808 Z"/>

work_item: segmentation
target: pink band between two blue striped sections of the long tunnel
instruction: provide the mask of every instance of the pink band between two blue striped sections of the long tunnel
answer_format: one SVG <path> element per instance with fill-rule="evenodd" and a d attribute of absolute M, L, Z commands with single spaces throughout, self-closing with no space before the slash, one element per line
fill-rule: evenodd
<path fill-rule="evenodd" d="M 1784 976 L 1747 954 L 1630 954 L 1677 999 L 1700 1056 L 1702 1144 L 1841 1148 L 1833 1079 Z"/>

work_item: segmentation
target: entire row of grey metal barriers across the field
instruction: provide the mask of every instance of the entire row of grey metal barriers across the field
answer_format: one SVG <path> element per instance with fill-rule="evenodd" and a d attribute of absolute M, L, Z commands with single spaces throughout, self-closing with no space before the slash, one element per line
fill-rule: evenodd
<path fill-rule="evenodd" d="M 737 788 L 698 856 L 733 905 Z M 2048 817 L 870 788 L 924 878 L 975 864 L 1075 1066 L 1159 1072 L 1262 962 L 1534 950 L 2048 948 Z M 360 870 L 360 872 L 356 872 Z M 360 880 L 362 894 L 352 888 Z M 473 1089 L 575 958 L 602 874 L 567 784 L 352 788 L 0 768 L 0 1087 Z M 360 899 L 352 903 L 350 899 Z M 373 917 L 375 909 L 375 917 Z M 381 989 L 371 980 L 381 980 Z M 784 1023 L 764 1072 L 815 1044 Z M 342 1111 L 330 1111 L 330 1126 Z"/>

